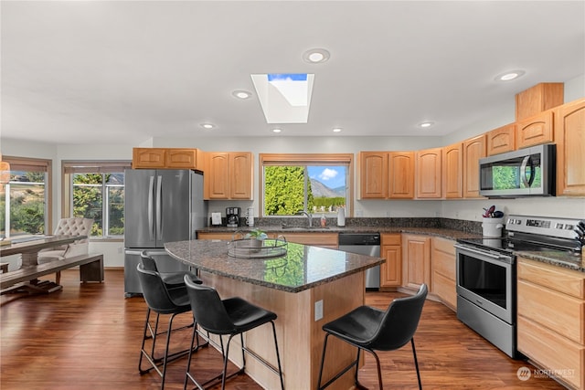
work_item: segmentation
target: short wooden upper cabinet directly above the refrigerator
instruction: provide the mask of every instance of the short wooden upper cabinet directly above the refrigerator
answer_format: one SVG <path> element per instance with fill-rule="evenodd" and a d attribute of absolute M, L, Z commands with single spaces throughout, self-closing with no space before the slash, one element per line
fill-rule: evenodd
<path fill-rule="evenodd" d="M 197 149 L 133 148 L 134 169 L 203 170 L 203 156 Z"/>

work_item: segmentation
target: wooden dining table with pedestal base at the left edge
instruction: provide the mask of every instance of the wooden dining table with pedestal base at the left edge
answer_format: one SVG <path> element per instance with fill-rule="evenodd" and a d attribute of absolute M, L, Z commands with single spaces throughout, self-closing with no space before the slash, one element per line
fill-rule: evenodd
<path fill-rule="evenodd" d="M 37 267 L 38 252 L 41 249 L 55 248 L 71 244 L 87 236 L 27 236 L 13 238 L 9 245 L 0 247 L 0 257 L 20 254 L 22 258 L 21 268 Z M 14 286 L 12 290 L 28 290 L 31 292 L 52 292 L 62 287 L 50 281 L 38 282 L 31 279 L 28 282 Z M 9 291 L 3 291 L 6 293 Z"/>

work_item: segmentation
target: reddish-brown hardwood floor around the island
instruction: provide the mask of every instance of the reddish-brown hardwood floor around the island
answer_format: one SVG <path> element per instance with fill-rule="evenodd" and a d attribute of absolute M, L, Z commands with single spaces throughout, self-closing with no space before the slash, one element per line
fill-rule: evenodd
<path fill-rule="evenodd" d="M 160 388 L 157 374 L 138 374 L 146 306 L 142 297 L 124 299 L 123 271 L 106 270 L 102 284 L 80 284 L 79 272 L 66 270 L 61 283 L 63 290 L 48 295 L 0 298 L 0 388 Z M 368 292 L 367 304 L 385 308 L 401 295 Z M 185 323 L 189 320 L 189 314 L 181 319 Z M 190 331 L 183 332 L 173 346 L 184 346 L 189 336 Z M 563 388 L 552 379 L 535 375 L 520 381 L 517 370 L 534 370 L 533 366 L 509 359 L 441 303 L 425 303 L 415 343 L 425 389 Z M 410 345 L 379 355 L 386 388 L 417 387 Z M 202 377 L 220 364 L 218 352 L 212 348 L 199 351 L 196 359 L 194 367 L 197 364 Z M 186 358 L 169 364 L 165 388 L 183 388 L 185 368 Z M 368 388 L 377 388 L 371 356 L 367 355 L 360 380 Z M 260 388 L 246 375 L 231 379 L 227 387 Z"/>

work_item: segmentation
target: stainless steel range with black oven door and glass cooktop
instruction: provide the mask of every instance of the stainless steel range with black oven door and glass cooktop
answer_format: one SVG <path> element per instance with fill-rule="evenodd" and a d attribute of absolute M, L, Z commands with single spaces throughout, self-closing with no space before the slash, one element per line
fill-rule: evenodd
<path fill-rule="evenodd" d="M 504 238 L 457 240 L 457 318 L 518 357 L 515 251 L 580 251 L 579 224 L 579 219 L 509 216 Z"/>

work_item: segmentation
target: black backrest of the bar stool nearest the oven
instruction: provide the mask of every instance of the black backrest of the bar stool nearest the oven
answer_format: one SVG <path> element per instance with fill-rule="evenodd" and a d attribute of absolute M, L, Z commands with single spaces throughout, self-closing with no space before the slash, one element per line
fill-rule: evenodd
<path fill-rule="evenodd" d="M 419 326 L 427 292 L 427 285 L 423 284 L 415 295 L 393 300 L 368 347 L 378 351 L 392 351 L 409 343 Z"/>

